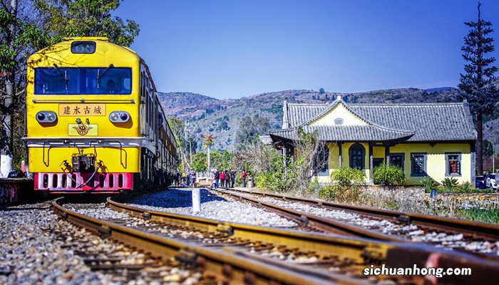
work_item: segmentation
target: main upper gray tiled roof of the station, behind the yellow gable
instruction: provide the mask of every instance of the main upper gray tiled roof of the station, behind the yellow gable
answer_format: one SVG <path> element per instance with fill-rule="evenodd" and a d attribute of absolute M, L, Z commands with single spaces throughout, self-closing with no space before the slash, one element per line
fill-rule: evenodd
<path fill-rule="evenodd" d="M 284 120 L 289 121 L 288 128 L 297 128 L 326 113 L 327 110 L 340 102 L 344 103 L 339 99 L 330 104 L 284 103 L 287 104 L 284 108 L 287 110 L 284 113 Z M 413 132 L 414 134 L 407 139 L 409 142 L 476 140 L 476 131 L 467 103 L 344 104 L 374 127 L 391 129 L 392 135 L 393 132 L 402 132 L 400 133 L 401 138 L 407 138 L 405 133 Z M 379 139 L 379 135 L 382 133 L 386 135 L 383 138 L 391 138 L 386 131 L 381 131 L 378 128 L 371 128 L 372 130 L 351 128 L 351 130 L 347 130 L 345 128 L 347 126 L 341 126 L 341 129 L 336 129 L 340 126 L 331 127 L 333 126 L 327 127 L 328 130 L 322 130 L 326 132 L 325 137 L 341 137 L 343 139 L 340 140 L 346 141 L 345 138 L 352 135 L 348 132 L 354 132 L 359 140 L 361 140 L 360 138 L 363 140 Z M 275 135 L 276 131 L 272 130 L 270 134 Z M 333 135 L 331 132 L 339 133 Z"/>

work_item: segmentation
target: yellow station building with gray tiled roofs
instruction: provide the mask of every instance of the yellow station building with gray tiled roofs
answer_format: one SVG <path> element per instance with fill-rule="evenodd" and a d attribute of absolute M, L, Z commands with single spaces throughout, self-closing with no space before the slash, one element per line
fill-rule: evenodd
<path fill-rule="evenodd" d="M 338 97 L 326 104 L 284 101 L 283 111 L 282 129 L 269 131 L 272 143 L 294 160 L 298 128 L 317 130 L 327 161 L 315 174 L 321 183 L 345 165 L 363 170 L 372 182 L 374 167 L 386 163 L 404 170 L 407 185 L 428 176 L 475 185 L 476 131 L 465 101 L 359 104 Z"/>

